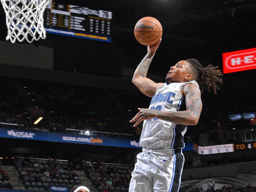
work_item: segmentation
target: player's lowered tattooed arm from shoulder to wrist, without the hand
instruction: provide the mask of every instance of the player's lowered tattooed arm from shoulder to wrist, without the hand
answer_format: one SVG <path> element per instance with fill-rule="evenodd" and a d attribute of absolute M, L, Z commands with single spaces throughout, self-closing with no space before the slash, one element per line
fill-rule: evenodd
<path fill-rule="evenodd" d="M 184 93 L 186 96 L 186 111 L 157 111 L 156 118 L 183 125 L 194 124 L 195 119 L 198 121 L 202 110 L 201 92 L 195 84 L 187 84 L 184 87 Z"/>

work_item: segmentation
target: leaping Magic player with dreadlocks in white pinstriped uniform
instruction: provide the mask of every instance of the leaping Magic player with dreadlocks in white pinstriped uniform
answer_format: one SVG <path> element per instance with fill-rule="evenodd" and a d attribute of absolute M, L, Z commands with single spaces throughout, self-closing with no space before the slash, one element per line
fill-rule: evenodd
<path fill-rule="evenodd" d="M 187 125 L 197 124 L 202 110 L 199 84 L 212 86 L 216 94 L 219 88 L 215 82 L 222 82 L 217 67 L 203 68 L 195 59 L 181 60 L 172 66 L 165 77 L 166 83 L 146 78 L 160 42 L 161 39 L 148 46 L 148 53 L 132 78 L 132 83 L 152 100 L 148 109 L 138 108 L 139 113 L 130 121 L 135 122 L 134 127 L 141 121 L 144 123 L 140 136 L 143 149 L 137 155 L 129 192 L 179 191 L 184 164 L 183 135 Z"/>

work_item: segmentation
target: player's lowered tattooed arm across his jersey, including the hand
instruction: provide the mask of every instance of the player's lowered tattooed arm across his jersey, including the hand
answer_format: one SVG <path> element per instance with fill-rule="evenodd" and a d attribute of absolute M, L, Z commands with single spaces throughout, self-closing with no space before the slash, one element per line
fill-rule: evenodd
<path fill-rule="evenodd" d="M 133 125 L 135 127 L 143 120 L 158 118 L 176 124 L 196 125 L 202 111 L 200 89 L 195 84 L 189 83 L 184 86 L 183 92 L 186 98 L 186 111 L 164 112 L 138 108 L 140 112 L 130 122 L 137 121 Z"/>

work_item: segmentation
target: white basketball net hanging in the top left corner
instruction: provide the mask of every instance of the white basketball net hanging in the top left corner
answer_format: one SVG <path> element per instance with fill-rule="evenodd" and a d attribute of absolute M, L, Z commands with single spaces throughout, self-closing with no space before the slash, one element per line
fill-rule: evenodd
<path fill-rule="evenodd" d="M 31 43 L 45 39 L 44 10 L 52 0 L 1 0 L 6 14 L 8 35 L 6 40 L 15 43 L 25 39 Z"/>

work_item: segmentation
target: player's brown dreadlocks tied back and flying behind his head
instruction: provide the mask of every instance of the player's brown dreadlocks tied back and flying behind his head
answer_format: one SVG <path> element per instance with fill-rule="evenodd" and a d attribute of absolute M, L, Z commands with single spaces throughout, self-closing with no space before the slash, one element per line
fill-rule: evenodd
<path fill-rule="evenodd" d="M 215 82 L 222 83 L 222 79 L 218 77 L 222 76 L 220 70 L 217 69 L 218 67 L 208 65 L 207 67 L 203 68 L 203 66 L 196 59 L 187 59 L 186 61 L 193 66 L 192 72 L 195 75 L 196 81 L 201 84 L 201 93 L 203 92 L 203 84 L 207 84 L 208 91 L 210 92 L 210 86 L 212 86 L 213 92 L 216 95 L 216 90 L 219 90 L 220 88 Z"/>

